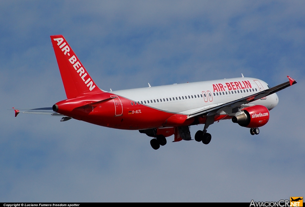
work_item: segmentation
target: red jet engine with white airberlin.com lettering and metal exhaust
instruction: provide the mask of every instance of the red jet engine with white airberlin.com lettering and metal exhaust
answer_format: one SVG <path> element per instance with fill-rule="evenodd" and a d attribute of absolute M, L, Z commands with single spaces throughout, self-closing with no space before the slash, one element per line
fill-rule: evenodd
<path fill-rule="evenodd" d="M 232 122 L 248 128 L 264 126 L 269 121 L 269 110 L 262 105 L 242 109 L 243 113 L 233 116 Z"/>

